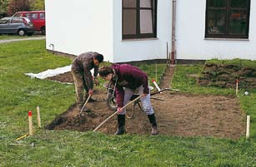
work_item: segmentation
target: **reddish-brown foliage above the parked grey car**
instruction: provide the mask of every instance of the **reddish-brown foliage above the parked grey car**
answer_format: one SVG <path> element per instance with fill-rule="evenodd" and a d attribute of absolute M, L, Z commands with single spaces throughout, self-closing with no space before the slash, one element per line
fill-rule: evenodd
<path fill-rule="evenodd" d="M 10 0 L 8 5 L 8 15 L 12 16 L 15 12 L 29 11 L 29 0 Z"/>

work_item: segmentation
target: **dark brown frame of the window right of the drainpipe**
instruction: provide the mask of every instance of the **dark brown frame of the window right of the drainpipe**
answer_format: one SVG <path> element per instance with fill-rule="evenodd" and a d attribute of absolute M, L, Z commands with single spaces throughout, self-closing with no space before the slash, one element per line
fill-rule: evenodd
<path fill-rule="evenodd" d="M 226 22 L 225 22 L 225 33 L 224 34 L 209 34 L 208 33 L 208 10 L 209 9 L 221 9 L 223 7 L 209 7 L 209 1 L 210 0 L 206 0 L 206 9 L 205 9 L 205 32 L 204 32 L 204 37 L 205 38 L 241 38 L 241 39 L 248 39 L 248 32 L 249 32 L 249 15 L 250 15 L 250 4 L 251 4 L 251 0 L 248 0 L 248 7 L 231 7 L 231 0 L 225 0 L 226 1 L 226 6 L 224 7 L 224 10 L 225 10 L 225 19 L 226 19 Z M 242 34 L 230 34 L 229 32 L 229 19 L 230 19 L 230 16 L 229 16 L 229 13 L 231 10 L 235 10 L 235 9 L 242 9 L 244 10 L 244 8 L 246 8 L 246 11 L 247 11 L 247 18 L 246 18 L 246 21 L 247 21 L 247 24 L 248 26 L 246 27 L 246 33 L 245 35 L 242 35 Z"/>

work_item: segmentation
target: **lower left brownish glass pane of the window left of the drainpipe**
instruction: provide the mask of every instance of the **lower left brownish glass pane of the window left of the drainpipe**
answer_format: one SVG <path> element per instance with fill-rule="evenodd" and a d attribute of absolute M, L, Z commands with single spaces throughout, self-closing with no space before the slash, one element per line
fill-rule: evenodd
<path fill-rule="evenodd" d="M 136 10 L 123 9 L 123 35 L 136 34 Z"/>

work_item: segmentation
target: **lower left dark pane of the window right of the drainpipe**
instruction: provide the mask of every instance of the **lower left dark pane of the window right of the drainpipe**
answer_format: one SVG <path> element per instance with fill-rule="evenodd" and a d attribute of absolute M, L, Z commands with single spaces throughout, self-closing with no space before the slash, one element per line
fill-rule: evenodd
<path fill-rule="evenodd" d="M 207 21 L 208 34 L 224 34 L 226 32 L 224 10 L 208 10 Z"/>

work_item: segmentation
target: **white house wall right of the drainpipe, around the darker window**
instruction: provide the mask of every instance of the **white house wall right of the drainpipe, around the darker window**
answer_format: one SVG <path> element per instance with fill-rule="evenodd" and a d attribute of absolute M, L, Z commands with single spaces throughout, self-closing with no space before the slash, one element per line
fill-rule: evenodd
<path fill-rule="evenodd" d="M 251 0 L 248 40 L 206 40 L 206 0 L 177 0 L 177 58 L 256 60 L 256 1 Z"/>

